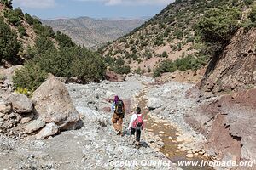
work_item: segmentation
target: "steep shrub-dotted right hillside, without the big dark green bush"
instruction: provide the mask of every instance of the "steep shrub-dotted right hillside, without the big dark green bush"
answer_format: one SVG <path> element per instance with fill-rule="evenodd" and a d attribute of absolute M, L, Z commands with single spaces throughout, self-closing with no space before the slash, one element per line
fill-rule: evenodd
<path fill-rule="evenodd" d="M 178 63 L 176 68 L 169 70 L 161 68 L 159 72 L 196 70 L 201 65 L 206 65 L 209 57 L 203 53 L 207 50 L 207 44 L 201 40 L 196 25 L 207 10 L 225 6 L 241 11 L 247 11 L 248 7 L 247 1 L 177 0 L 143 26 L 100 51 L 106 57 L 124 59 L 125 65 L 130 65 L 131 70 L 140 73 L 154 70 L 156 65 L 160 65 L 160 61 L 180 58 L 184 58 L 180 61 L 182 64 Z M 186 62 L 189 65 L 183 65 Z"/>

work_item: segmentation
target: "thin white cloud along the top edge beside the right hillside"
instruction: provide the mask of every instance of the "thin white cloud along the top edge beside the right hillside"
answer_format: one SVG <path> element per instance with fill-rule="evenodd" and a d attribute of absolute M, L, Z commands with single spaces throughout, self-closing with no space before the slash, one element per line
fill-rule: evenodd
<path fill-rule="evenodd" d="M 174 0 L 76 0 L 84 2 L 102 2 L 106 5 L 166 5 Z"/>

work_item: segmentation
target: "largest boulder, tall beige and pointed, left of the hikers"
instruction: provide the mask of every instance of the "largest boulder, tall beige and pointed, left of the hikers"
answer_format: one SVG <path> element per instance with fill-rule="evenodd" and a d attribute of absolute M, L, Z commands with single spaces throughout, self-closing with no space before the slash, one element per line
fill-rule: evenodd
<path fill-rule="evenodd" d="M 60 130 L 81 127 L 79 112 L 75 109 L 65 85 L 49 77 L 33 94 L 35 111 L 46 123 L 54 122 Z"/>

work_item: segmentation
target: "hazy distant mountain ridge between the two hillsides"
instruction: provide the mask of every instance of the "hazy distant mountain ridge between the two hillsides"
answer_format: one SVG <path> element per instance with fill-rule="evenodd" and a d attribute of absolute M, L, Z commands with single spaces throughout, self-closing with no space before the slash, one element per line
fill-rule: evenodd
<path fill-rule="evenodd" d="M 54 31 L 58 30 L 72 37 L 74 42 L 91 48 L 116 40 L 141 26 L 145 21 L 145 17 L 129 20 L 96 20 L 89 17 L 79 17 L 76 19 L 44 20 L 43 23 L 53 27 Z"/>

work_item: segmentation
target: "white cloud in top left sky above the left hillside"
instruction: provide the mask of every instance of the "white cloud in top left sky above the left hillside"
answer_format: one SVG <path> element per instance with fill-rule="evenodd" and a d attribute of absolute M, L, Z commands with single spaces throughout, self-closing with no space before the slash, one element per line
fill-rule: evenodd
<path fill-rule="evenodd" d="M 15 4 L 26 8 L 52 8 L 55 0 L 14 0 Z"/>

